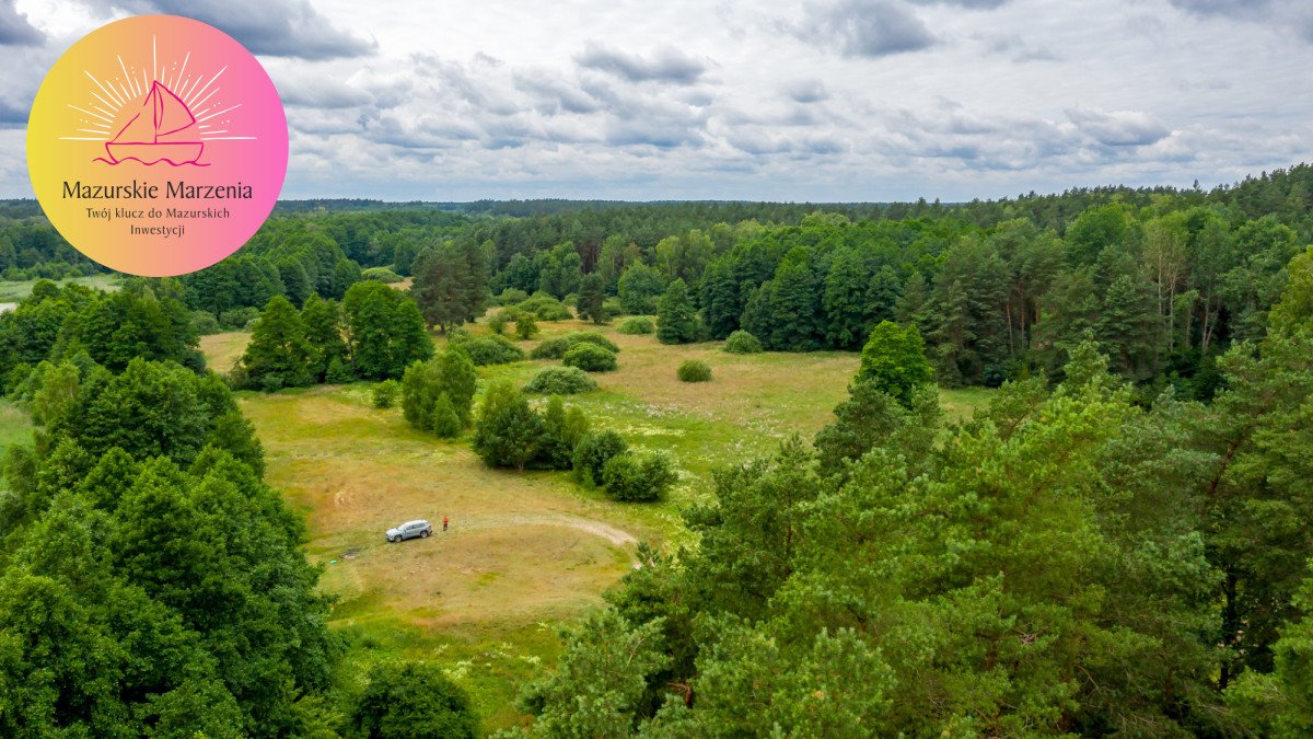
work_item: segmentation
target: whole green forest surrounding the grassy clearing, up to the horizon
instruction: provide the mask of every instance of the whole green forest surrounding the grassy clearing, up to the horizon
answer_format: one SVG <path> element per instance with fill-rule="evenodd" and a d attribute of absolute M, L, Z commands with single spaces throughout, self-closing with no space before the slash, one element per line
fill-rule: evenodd
<path fill-rule="evenodd" d="M 483 735 L 441 656 L 351 675 L 246 409 L 360 387 L 484 475 L 670 501 L 685 460 L 566 402 L 618 335 L 855 371 L 821 427 L 693 476 L 500 735 L 1309 735 L 1310 245 L 1308 164 L 958 204 L 306 201 L 104 292 L 0 204 L 0 276 L 37 280 L 0 313 L 32 425 L 0 434 L 0 735 Z M 681 384 L 716 385 L 704 356 Z M 561 366 L 494 373 L 532 362 Z M 960 388 L 989 401 L 951 416 Z"/>

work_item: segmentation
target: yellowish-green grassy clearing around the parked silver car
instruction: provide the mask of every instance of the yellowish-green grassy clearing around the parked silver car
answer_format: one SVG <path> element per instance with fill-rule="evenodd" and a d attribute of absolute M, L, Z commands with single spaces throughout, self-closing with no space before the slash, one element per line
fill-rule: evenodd
<path fill-rule="evenodd" d="M 712 471 L 771 454 L 793 434 L 809 439 L 830 422 L 857 368 L 855 354 L 739 356 L 718 345 L 662 346 L 612 326 L 541 326 L 537 341 L 600 330 L 621 346 L 620 368 L 593 375 L 596 392 L 566 401 L 633 447 L 668 452 L 680 479 L 666 500 L 616 504 L 567 473 L 487 469 L 467 438 L 444 442 L 411 429 L 399 409 L 374 409 L 366 383 L 240 393 L 265 446 L 267 477 L 306 515 L 307 554 L 324 567 L 323 588 L 340 598 L 334 627 L 355 636 L 344 682 L 377 660 L 440 659 L 488 728 L 525 721 L 513 706 L 519 684 L 557 659 L 562 625 L 603 604 L 603 590 L 633 565 L 634 543 L 691 543 L 680 512 L 710 496 Z M 247 338 L 205 337 L 210 366 L 231 367 Z M 680 383 L 675 370 L 685 359 L 710 364 L 712 381 Z M 481 392 L 549 364 L 483 367 Z M 943 393 L 951 418 L 986 398 L 986 391 Z M 444 515 L 446 534 L 383 540 L 389 526 Z"/>

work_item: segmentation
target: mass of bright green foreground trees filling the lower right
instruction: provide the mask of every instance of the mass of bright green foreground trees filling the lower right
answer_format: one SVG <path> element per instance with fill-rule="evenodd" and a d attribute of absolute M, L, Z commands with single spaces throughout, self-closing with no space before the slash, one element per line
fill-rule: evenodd
<path fill-rule="evenodd" d="M 525 734 L 1309 735 L 1313 249 L 1289 272 L 1211 404 L 1140 404 L 1082 341 L 947 423 L 882 325 L 810 447 L 639 548 Z"/>

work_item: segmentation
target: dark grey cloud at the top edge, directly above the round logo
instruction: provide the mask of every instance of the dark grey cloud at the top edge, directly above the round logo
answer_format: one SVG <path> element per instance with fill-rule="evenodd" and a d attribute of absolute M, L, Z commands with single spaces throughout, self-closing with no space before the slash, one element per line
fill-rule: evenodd
<path fill-rule="evenodd" d="M 253 54 L 337 59 L 373 54 L 378 45 L 337 28 L 309 0 L 93 0 L 106 11 L 167 13 L 207 22 Z"/>

